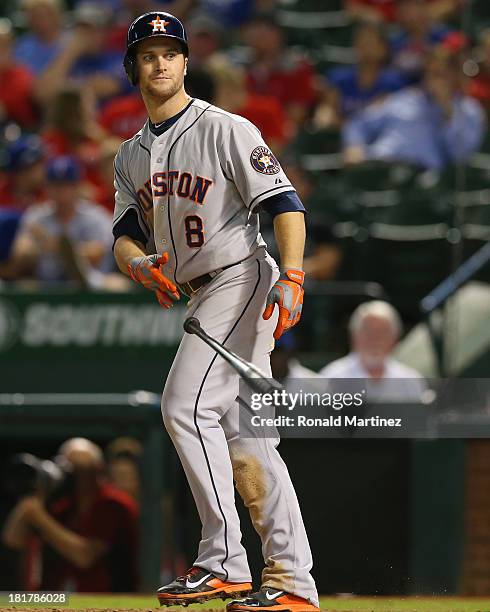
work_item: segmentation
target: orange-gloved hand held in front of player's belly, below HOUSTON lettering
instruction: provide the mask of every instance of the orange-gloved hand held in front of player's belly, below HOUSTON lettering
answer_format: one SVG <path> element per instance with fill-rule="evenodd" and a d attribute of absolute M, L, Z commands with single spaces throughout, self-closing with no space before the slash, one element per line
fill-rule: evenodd
<path fill-rule="evenodd" d="M 136 283 L 155 292 L 160 306 L 171 308 L 180 295 L 177 287 L 163 274 L 167 261 L 168 253 L 133 257 L 128 264 L 128 272 Z"/>

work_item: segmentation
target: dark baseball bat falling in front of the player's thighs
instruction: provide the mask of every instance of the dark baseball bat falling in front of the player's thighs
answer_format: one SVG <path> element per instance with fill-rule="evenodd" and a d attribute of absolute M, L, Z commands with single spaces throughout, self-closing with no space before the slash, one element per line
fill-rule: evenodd
<path fill-rule="evenodd" d="M 224 347 L 217 340 L 207 334 L 198 319 L 189 317 L 184 321 L 184 330 L 188 334 L 196 334 L 208 346 L 214 349 L 223 359 L 225 359 L 240 376 L 247 382 L 249 387 L 257 393 L 271 393 L 272 391 L 282 391 L 283 386 L 274 378 L 269 378 L 253 363 L 239 357 L 230 349 Z"/>

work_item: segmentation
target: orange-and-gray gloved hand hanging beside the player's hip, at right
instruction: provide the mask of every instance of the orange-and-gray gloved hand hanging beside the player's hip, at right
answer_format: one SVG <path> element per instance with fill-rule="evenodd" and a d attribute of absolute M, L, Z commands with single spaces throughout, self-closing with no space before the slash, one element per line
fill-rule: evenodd
<path fill-rule="evenodd" d="M 279 319 L 277 320 L 274 338 L 279 340 L 282 334 L 294 327 L 301 318 L 303 308 L 303 282 L 305 273 L 303 270 L 284 270 L 269 291 L 267 303 L 262 317 L 270 319 L 274 312 L 274 306 L 279 306 Z"/>

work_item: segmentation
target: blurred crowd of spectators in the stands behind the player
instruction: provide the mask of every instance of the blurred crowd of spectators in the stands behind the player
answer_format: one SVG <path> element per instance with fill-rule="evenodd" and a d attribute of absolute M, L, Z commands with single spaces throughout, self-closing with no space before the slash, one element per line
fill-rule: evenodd
<path fill-rule="evenodd" d="M 485 4 L 2 3 L 0 279 L 129 287 L 111 253 L 113 159 L 146 111 L 122 58 L 128 25 L 155 8 L 186 23 L 190 95 L 255 123 L 307 209 L 314 209 L 309 278 L 337 278 L 345 252 L 332 232 L 337 219 L 329 208 L 332 194 L 325 195 L 329 183 L 370 162 L 444 172 L 484 146 L 490 112 Z"/>

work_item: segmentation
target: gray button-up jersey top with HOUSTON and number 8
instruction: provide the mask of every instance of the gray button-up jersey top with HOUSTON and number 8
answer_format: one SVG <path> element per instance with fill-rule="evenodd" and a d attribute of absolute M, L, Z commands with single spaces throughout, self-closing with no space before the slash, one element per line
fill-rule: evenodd
<path fill-rule="evenodd" d="M 134 208 L 177 283 L 252 254 L 263 244 L 252 211 L 293 189 L 253 124 L 201 100 L 161 136 L 147 122 L 124 142 L 115 186 L 114 223 Z"/>

